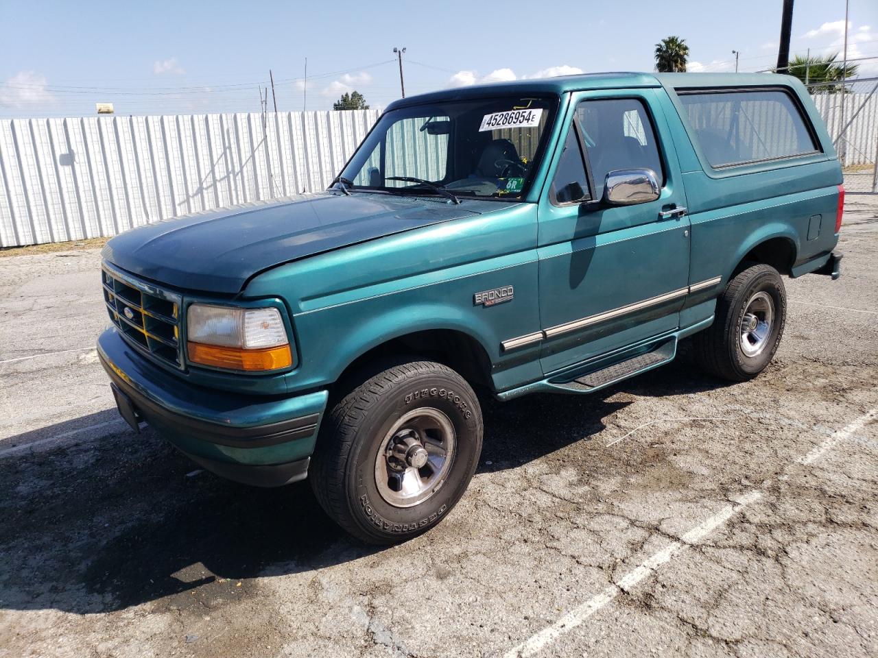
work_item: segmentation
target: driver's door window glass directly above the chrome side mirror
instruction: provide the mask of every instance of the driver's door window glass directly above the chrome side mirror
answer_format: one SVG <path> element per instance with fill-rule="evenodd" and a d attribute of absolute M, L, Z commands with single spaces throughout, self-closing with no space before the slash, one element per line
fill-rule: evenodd
<path fill-rule="evenodd" d="M 656 134 L 637 98 L 583 101 L 576 109 L 576 120 L 598 189 L 615 169 L 652 169 L 659 185 L 665 184 Z"/>

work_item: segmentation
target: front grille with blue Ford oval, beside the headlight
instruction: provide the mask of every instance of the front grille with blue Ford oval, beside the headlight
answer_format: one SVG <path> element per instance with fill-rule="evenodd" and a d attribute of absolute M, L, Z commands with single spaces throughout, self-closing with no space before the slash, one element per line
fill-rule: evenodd
<path fill-rule="evenodd" d="M 156 361 L 183 368 L 179 295 L 112 268 L 101 268 L 104 302 L 126 340 Z"/>

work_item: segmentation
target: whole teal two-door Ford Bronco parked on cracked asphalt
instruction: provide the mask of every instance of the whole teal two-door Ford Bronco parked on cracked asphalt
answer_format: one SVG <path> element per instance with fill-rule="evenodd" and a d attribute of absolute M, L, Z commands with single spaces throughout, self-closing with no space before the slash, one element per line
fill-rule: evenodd
<path fill-rule="evenodd" d="M 435 526 L 475 388 L 582 395 L 671 361 L 766 368 L 782 275 L 839 274 L 831 139 L 782 75 L 576 75 L 390 105 L 320 194 L 104 248 L 119 411 L 220 476 L 307 477 L 362 540 Z"/>

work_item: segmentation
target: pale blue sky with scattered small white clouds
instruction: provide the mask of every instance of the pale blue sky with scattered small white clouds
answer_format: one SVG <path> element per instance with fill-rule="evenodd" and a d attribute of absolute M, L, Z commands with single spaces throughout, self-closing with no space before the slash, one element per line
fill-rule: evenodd
<path fill-rule="evenodd" d="M 686 39 L 690 71 L 777 61 L 781 0 L 433 4 L 0 0 L 0 118 L 328 110 L 356 89 L 372 107 L 453 86 L 651 71 L 656 42 Z M 734 9 L 730 9 L 733 7 Z M 842 49 L 844 0 L 795 0 L 791 55 Z M 878 1 L 850 0 L 848 58 L 878 75 Z M 307 82 L 305 61 L 307 58 Z M 273 101 L 269 101 L 269 109 Z"/>

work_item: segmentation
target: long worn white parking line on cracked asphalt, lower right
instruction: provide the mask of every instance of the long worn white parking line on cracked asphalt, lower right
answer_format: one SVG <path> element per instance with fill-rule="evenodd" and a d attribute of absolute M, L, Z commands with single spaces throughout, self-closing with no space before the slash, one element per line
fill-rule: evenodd
<path fill-rule="evenodd" d="M 853 433 L 862 429 L 867 423 L 876 417 L 878 417 L 878 409 L 868 411 L 860 418 L 854 420 L 853 423 L 838 430 L 838 432 L 833 433 L 819 446 L 811 450 L 810 453 L 795 460 L 795 463 L 810 464 L 817 461 L 817 459 L 822 457 L 833 447 L 837 446 L 839 442 L 849 438 Z M 781 476 L 781 478 L 782 477 L 783 476 Z M 525 656 L 536 654 L 543 649 L 543 647 L 546 647 L 551 644 L 551 642 L 558 639 L 559 636 L 564 633 L 569 633 L 572 629 L 580 626 L 589 617 L 594 615 L 595 612 L 600 611 L 601 608 L 612 603 L 615 597 L 619 596 L 619 594 L 627 592 L 660 566 L 671 561 L 673 556 L 679 554 L 685 547 L 697 544 L 707 535 L 714 532 L 716 528 L 723 526 L 723 524 L 731 519 L 736 512 L 743 509 L 746 505 L 759 500 L 762 496 L 763 494 L 761 491 L 754 490 L 745 494 L 744 497 L 739 498 L 736 504 L 726 505 L 721 511 L 716 512 L 716 514 L 709 519 L 703 521 L 702 524 L 695 526 L 687 533 L 683 534 L 679 541 L 674 541 L 671 545 L 663 548 L 658 553 L 652 554 L 646 561 L 622 576 L 622 578 L 616 583 L 608 585 L 601 591 L 601 593 L 590 598 L 586 603 L 573 608 L 571 612 L 567 612 L 551 626 L 547 626 L 539 633 L 531 635 L 520 645 L 504 654 L 504 658 L 525 658 Z"/>

